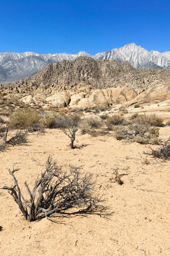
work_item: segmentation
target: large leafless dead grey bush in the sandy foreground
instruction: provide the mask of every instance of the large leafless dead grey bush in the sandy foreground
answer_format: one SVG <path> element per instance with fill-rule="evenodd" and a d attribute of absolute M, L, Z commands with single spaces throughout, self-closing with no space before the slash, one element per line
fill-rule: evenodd
<path fill-rule="evenodd" d="M 63 170 L 49 156 L 45 171 L 41 173 L 39 179 L 37 177 L 35 180 L 32 192 L 25 181 L 25 187 L 30 196 L 29 200 L 25 200 L 21 195 L 18 181 L 14 176 L 14 172 L 18 170 L 14 169 L 14 166 L 12 171 L 8 169 L 14 180 L 14 185 L 4 186 L 1 189 L 8 190 L 18 204 L 25 220 L 36 221 L 43 217 L 51 217 L 58 210 L 66 210 L 70 207 L 86 207 L 87 212 L 105 210 L 104 206 L 99 205 L 104 200 L 96 195 L 97 184 L 96 181 L 93 181 L 93 174 L 81 173 L 79 167 L 69 166 L 69 171 Z M 37 192 L 38 198 L 35 201 Z"/>

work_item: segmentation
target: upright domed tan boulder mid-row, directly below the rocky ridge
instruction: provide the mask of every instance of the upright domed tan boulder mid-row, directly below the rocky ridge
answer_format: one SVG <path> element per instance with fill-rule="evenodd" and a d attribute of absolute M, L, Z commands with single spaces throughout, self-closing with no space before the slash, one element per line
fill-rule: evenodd
<path fill-rule="evenodd" d="M 104 106 L 108 107 L 108 101 L 102 90 L 95 90 L 89 97 L 89 107 L 92 106 Z"/>

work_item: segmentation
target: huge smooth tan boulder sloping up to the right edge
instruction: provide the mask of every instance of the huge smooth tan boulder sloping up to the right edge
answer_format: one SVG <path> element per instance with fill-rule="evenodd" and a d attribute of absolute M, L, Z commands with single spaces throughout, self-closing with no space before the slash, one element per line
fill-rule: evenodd
<path fill-rule="evenodd" d="M 149 88 L 135 97 L 130 105 L 140 102 L 147 103 L 158 100 L 160 102 L 170 99 L 170 83 L 160 84 Z"/>

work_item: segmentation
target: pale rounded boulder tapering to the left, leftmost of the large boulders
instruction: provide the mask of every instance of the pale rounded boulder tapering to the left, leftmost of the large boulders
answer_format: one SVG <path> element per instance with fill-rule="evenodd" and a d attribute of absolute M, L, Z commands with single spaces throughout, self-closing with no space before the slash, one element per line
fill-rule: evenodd
<path fill-rule="evenodd" d="M 64 108 L 69 105 L 70 96 L 66 92 L 58 92 L 46 98 L 46 101 L 52 103 L 52 105 L 57 106 L 58 108 Z"/>

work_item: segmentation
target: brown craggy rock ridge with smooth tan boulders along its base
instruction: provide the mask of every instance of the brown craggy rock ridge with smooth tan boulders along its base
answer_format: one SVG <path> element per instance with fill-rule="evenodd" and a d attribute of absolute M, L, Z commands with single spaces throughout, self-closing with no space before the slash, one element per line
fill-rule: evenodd
<path fill-rule="evenodd" d="M 0 99 L 15 98 L 30 104 L 46 100 L 43 108 L 49 104 L 58 108 L 128 107 L 168 100 L 169 88 L 170 69 L 137 70 L 128 61 L 119 64 L 116 60 L 78 57 L 50 63 L 25 80 L 0 84 Z"/>

